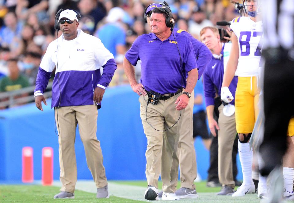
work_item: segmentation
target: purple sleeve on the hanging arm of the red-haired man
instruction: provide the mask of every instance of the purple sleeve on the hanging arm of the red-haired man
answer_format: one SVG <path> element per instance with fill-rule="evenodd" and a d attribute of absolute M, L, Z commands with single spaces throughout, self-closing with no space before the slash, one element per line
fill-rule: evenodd
<path fill-rule="evenodd" d="M 204 84 L 204 97 L 206 106 L 214 105 L 214 98 L 216 96 L 216 90 L 214 89 L 214 84 L 209 77 L 208 71 L 204 71 L 203 74 L 203 84 Z"/>

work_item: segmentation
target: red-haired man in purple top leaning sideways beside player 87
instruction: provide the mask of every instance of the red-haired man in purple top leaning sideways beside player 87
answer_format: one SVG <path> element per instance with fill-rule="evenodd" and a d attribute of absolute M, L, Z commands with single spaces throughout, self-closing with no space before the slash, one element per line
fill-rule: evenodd
<path fill-rule="evenodd" d="M 224 67 L 226 67 L 228 56 L 230 55 L 231 44 L 220 42 L 219 31 L 215 27 L 204 27 L 200 31 L 200 38 L 212 52 L 212 59 L 203 74 L 203 82 L 209 128 L 213 136 L 216 136 L 215 128 L 218 130 L 218 172 L 219 180 L 223 187 L 217 194 L 227 195 L 228 193 L 233 193 L 235 188 L 232 169 L 232 151 L 237 134 L 235 100 L 230 103 L 223 102 L 218 107 L 220 112 L 218 122 L 214 120 L 213 111 L 216 93 L 220 95 Z M 235 76 L 229 86 L 234 98 L 237 82 L 238 77 Z"/>

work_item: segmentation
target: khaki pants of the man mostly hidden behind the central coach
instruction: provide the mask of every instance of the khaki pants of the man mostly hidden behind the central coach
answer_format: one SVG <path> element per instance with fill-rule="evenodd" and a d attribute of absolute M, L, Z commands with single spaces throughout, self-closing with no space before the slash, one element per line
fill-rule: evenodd
<path fill-rule="evenodd" d="M 178 170 L 180 166 L 181 187 L 195 189 L 194 180 L 197 178 L 196 153 L 193 140 L 193 106 L 194 91 L 191 93 L 188 106 L 182 110 L 182 124 L 177 153 L 173 154 L 173 164 L 170 173 L 173 191 L 176 190 L 178 183 Z M 166 132 L 164 132 L 166 133 Z M 162 151 L 162 157 L 164 157 Z M 162 167 L 162 174 L 164 174 Z M 163 188 L 164 188 L 163 184 Z"/>

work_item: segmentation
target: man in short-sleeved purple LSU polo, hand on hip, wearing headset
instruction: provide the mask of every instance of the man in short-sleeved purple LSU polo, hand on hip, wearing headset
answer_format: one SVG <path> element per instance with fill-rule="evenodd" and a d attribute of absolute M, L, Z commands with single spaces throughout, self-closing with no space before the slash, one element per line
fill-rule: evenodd
<path fill-rule="evenodd" d="M 198 64 L 191 41 L 187 36 L 172 31 L 170 27 L 173 26 L 170 9 L 155 8 L 150 17 L 151 33 L 139 36 L 124 58 L 125 74 L 133 91 L 140 96 L 140 115 L 148 140 L 147 200 L 159 199 L 160 174 L 164 185 L 162 200 L 179 199 L 170 178 L 173 155 L 177 152 L 181 128 L 193 130 L 193 109 L 188 103 L 197 82 Z M 142 67 L 140 83 L 135 79 L 132 66 L 139 59 Z M 179 94 L 182 87 L 184 94 Z M 148 105 L 147 93 L 151 90 L 162 95 L 157 105 Z M 186 116 L 190 117 L 189 122 L 183 123 Z M 163 133 L 163 130 L 167 131 Z M 162 151 L 166 153 L 162 154 Z"/>

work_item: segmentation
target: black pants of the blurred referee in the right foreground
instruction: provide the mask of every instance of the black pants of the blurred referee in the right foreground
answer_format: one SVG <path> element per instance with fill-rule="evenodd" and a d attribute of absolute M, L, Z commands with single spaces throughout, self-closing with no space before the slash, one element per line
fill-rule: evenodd
<path fill-rule="evenodd" d="M 264 140 L 259 152 L 265 166 L 262 175 L 268 175 L 287 150 L 286 135 L 291 116 L 294 114 L 294 50 L 264 50 Z"/>

